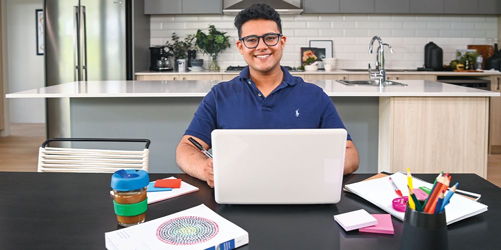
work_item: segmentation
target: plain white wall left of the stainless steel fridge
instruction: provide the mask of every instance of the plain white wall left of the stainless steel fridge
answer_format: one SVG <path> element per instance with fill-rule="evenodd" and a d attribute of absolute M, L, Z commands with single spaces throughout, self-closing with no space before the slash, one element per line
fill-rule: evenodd
<path fill-rule="evenodd" d="M 37 55 L 35 9 L 43 7 L 43 0 L 4 1 L 7 12 L 7 73 L 8 89 L 12 93 L 45 84 L 44 56 Z M 44 123 L 43 98 L 7 99 L 11 123 Z"/>

